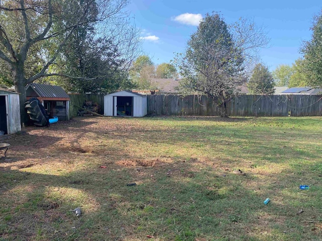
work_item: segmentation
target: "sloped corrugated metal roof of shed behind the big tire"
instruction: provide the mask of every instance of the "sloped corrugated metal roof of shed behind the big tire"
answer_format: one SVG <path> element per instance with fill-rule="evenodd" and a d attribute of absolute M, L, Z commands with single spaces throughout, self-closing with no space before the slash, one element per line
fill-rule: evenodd
<path fill-rule="evenodd" d="M 60 86 L 30 83 L 27 85 L 28 87 L 33 88 L 40 95 L 39 97 L 69 98 L 68 94 Z"/>

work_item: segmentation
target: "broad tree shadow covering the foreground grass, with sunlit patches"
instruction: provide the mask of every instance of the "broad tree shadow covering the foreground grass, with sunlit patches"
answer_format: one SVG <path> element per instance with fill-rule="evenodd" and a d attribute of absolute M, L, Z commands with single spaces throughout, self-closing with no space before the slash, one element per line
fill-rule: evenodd
<path fill-rule="evenodd" d="M 160 240 L 318 239 L 320 188 L 298 190 L 298 177 L 285 175 L 291 168 L 258 186 L 252 173 L 214 176 L 210 167 L 191 168 L 181 162 L 175 168 L 114 166 L 61 176 L 2 173 L 2 235 L 26 240 L 37 235 L 43 240 L 143 239 L 146 234 Z M 132 182 L 137 185 L 127 186 Z M 271 202 L 264 205 L 267 197 Z M 76 206 L 83 208 L 83 217 L 70 212 Z M 297 214 L 300 209 L 304 212 Z"/>

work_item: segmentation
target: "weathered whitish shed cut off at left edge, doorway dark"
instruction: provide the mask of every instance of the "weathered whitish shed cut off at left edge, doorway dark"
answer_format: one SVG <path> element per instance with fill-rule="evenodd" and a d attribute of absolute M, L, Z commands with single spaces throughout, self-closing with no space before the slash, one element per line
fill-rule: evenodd
<path fill-rule="evenodd" d="M 0 89 L 0 135 L 21 131 L 19 94 Z"/>

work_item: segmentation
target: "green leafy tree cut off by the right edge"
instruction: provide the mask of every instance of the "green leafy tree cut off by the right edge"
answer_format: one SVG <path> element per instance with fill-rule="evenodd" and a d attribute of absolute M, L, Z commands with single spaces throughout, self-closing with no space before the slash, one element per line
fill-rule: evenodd
<path fill-rule="evenodd" d="M 305 41 L 301 49 L 304 73 L 309 86 L 322 88 L 322 10 L 313 18 L 311 30 L 311 40 Z"/>

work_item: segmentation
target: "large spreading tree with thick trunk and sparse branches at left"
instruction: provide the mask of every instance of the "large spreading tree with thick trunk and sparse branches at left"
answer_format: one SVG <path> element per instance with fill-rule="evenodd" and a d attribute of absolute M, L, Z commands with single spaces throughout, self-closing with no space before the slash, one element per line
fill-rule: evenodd
<path fill-rule="evenodd" d="M 118 53 L 123 54 L 122 58 L 135 52 L 131 47 L 136 42 L 126 38 L 133 36 L 129 34 L 133 31 L 126 28 L 126 21 L 122 22 L 127 19 L 123 12 L 127 3 L 128 0 L 0 2 L 0 59 L 8 66 L 15 89 L 20 93 L 23 120 L 26 84 L 46 76 L 89 80 L 79 72 L 79 75 L 76 72 L 69 75 L 63 67 L 53 67 L 59 64 L 60 57 L 67 59 L 63 51 L 68 49 L 66 46 L 80 29 L 88 30 L 90 26 L 98 36 L 113 41 L 118 47 Z M 123 66 L 126 66 L 125 62 Z M 100 77 L 90 79 L 97 80 Z"/>

